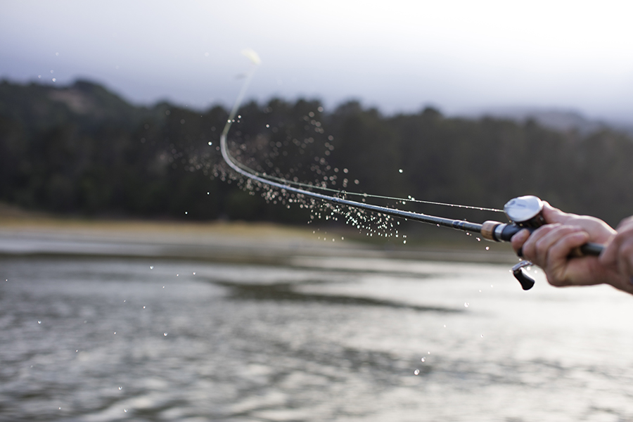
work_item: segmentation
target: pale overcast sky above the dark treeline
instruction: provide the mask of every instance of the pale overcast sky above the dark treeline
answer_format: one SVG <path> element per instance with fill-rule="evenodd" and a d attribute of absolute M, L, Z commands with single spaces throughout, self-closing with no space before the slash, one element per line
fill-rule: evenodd
<path fill-rule="evenodd" d="M 134 103 L 230 105 L 250 48 L 262 65 L 248 96 L 260 100 L 633 120 L 633 2 L 2 0 L 1 10 L 0 77 L 84 77 Z"/>

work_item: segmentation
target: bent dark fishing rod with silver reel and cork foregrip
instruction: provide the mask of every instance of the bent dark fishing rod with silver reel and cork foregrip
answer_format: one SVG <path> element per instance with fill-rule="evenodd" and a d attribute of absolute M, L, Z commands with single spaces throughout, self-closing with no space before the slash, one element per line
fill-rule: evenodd
<path fill-rule="evenodd" d="M 241 101 L 246 92 L 246 88 L 250 83 L 250 79 L 255 73 L 255 69 L 257 65 L 260 64 L 260 59 L 257 56 L 257 53 L 254 51 L 243 51 L 243 54 L 250 58 L 254 67 L 248 73 L 245 82 L 242 86 L 240 94 L 234 104 L 231 113 L 229 114 L 229 119 L 224 125 L 224 130 L 222 131 L 222 135 L 220 136 L 220 149 L 222 151 L 222 158 L 226 162 L 231 169 L 235 170 L 239 174 L 242 174 L 244 177 L 248 177 L 248 179 L 252 179 L 255 181 L 259 181 L 262 184 L 273 186 L 275 188 L 281 189 L 282 193 L 292 192 L 296 193 L 300 196 L 305 196 L 309 198 L 315 198 L 324 200 L 328 203 L 334 203 L 337 205 L 345 205 L 347 207 L 354 207 L 359 210 L 368 210 L 371 212 L 377 212 L 378 214 L 388 215 L 390 217 L 398 217 L 404 218 L 406 220 L 413 220 L 416 222 L 422 222 L 426 224 L 435 224 L 435 226 L 443 226 L 449 227 L 451 229 L 456 229 L 460 231 L 473 232 L 481 234 L 482 238 L 485 238 L 488 241 L 494 242 L 509 242 L 511 241 L 512 236 L 517 234 L 519 231 L 523 229 L 528 229 L 530 232 L 535 231 L 539 226 L 545 224 L 545 220 L 542 216 L 543 210 L 543 202 L 536 196 L 520 196 L 518 198 L 513 198 L 509 200 L 506 205 L 504 205 L 504 213 L 506 217 L 510 220 L 509 223 L 502 223 L 496 221 L 486 221 L 482 224 L 467 222 L 465 220 L 459 219 L 449 219 L 445 217 L 435 217 L 433 215 L 421 214 L 418 212 L 410 212 L 404 210 L 398 210 L 396 208 L 383 207 L 380 205 L 373 205 L 369 203 L 361 203 L 355 200 L 349 200 L 345 198 L 345 193 L 340 191 L 341 196 L 332 196 L 326 195 L 324 193 L 316 193 L 314 191 L 309 191 L 307 188 L 301 188 L 292 186 L 292 182 L 287 181 L 286 179 L 282 179 L 279 177 L 272 177 L 267 174 L 262 174 L 256 172 L 255 170 L 250 169 L 249 167 L 243 165 L 241 162 L 238 162 L 231 156 L 229 153 L 228 143 L 226 141 L 227 136 L 229 134 L 229 129 L 231 129 L 231 123 L 234 122 L 234 117 L 237 113 L 237 110 L 241 104 Z M 302 185 L 306 186 L 306 185 Z M 319 188 L 319 186 L 314 186 L 315 188 Z M 446 204 L 442 204 L 446 205 Z M 474 208 L 474 207 L 469 207 Z M 603 245 L 599 245 L 597 243 L 585 243 L 575 252 L 575 255 L 593 255 L 598 256 L 603 250 Z M 523 269 L 525 267 L 532 266 L 532 262 L 530 261 L 521 261 L 512 267 L 511 271 L 516 279 L 521 284 L 523 290 L 529 290 L 534 286 L 534 279 L 525 274 Z"/>

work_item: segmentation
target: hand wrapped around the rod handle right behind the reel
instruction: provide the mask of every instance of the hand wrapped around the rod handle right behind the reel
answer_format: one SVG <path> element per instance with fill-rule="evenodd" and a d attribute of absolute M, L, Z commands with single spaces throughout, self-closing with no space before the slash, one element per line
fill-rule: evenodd
<path fill-rule="evenodd" d="M 528 230 L 519 231 L 512 238 L 515 251 L 545 271 L 552 286 L 588 286 L 608 283 L 622 290 L 622 277 L 605 267 L 598 257 L 570 258 L 575 248 L 587 242 L 606 243 L 615 231 L 601 219 L 562 212 L 544 203 L 543 217 L 546 225 L 532 235 Z M 633 293 L 633 286 L 629 291 Z"/>

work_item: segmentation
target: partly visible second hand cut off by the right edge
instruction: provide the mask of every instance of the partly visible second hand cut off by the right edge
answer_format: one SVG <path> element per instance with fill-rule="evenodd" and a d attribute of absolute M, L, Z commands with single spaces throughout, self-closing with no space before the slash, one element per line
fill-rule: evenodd
<path fill-rule="evenodd" d="M 615 286 L 626 290 L 633 283 L 633 216 L 622 220 L 618 224 L 618 231 L 606 245 L 600 255 L 599 262 L 624 279 L 625 285 Z"/>

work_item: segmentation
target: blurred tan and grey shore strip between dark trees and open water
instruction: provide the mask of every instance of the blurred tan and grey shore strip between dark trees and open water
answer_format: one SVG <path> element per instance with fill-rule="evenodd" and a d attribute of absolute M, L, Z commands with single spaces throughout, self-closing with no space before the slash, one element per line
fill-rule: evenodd
<path fill-rule="evenodd" d="M 286 264 L 296 257 L 516 262 L 508 245 L 490 242 L 474 244 L 476 249 L 466 243 L 442 242 L 405 247 L 393 242 L 364 243 L 358 241 L 362 236 L 344 231 L 318 230 L 273 223 L 89 220 L 0 213 L 0 257 L 160 257 L 260 264 Z"/>

